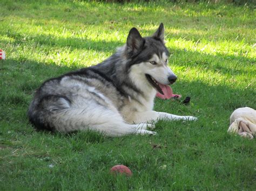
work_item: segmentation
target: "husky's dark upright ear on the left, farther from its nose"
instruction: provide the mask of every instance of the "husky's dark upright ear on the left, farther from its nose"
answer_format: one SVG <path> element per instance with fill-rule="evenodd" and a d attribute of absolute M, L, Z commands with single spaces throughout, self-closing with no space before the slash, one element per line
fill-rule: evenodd
<path fill-rule="evenodd" d="M 132 54 L 139 53 L 145 43 L 145 39 L 140 36 L 139 31 L 136 28 L 132 28 L 129 32 L 129 35 L 127 37 L 126 45 L 129 52 L 132 52 Z"/>

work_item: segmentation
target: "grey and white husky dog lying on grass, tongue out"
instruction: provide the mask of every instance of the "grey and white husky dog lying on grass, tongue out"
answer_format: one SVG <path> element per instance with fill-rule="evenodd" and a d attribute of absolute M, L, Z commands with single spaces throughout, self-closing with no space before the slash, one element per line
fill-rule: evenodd
<path fill-rule="evenodd" d="M 96 66 L 45 81 L 37 90 L 28 115 L 38 129 L 59 132 L 96 130 L 106 136 L 151 134 L 154 122 L 196 120 L 152 111 L 154 98 L 172 96 L 177 80 L 167 66 L 164 25 L 143 38 L 132 28 L 126 44 Z"/>

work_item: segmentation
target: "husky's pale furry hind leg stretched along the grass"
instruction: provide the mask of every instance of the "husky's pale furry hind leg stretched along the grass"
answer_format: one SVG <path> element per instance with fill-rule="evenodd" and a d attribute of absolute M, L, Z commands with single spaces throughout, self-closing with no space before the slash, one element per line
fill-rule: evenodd
<path fill-rule="evenodd" d="M 57 131 L 71 132 L 77 130 L 96 130 L 106 136 L 123 136 L 132 133 L 155 135 L 146 130 L 151 124 L 127 124 L 118 112 L 102 105 L 87 105 L 86 108 L 67 108 L 55 112 L 48 118 Z"/>

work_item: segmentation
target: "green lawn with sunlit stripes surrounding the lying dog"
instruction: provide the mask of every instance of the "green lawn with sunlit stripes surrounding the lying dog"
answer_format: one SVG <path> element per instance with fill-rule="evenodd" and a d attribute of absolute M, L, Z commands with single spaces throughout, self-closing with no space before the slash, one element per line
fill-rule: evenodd
<path fill-rule="evenodd" d="M 232 4 L 1 1 L 0 190 L 254 190 L 255 140 L 227 134 L 239 107 L 256 108 L 255 9 Z M 131 27 L 151 35 L 163 22 L 174 93 L 155 109 L 197 116 L 159 122 L 157 136 L 37 132 L 26 110 L 50 77 L 95 65 Z M 158 145 L 153 148 L 153 145 Z M 131 178 L 112 176 L 116 164 Z"/>

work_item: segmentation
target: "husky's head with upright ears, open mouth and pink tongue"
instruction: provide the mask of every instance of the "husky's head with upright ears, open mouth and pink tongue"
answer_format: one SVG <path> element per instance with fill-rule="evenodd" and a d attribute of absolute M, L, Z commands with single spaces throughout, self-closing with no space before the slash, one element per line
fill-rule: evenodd
<path fill-rule="evenodd" d="M 144 81 L 144 86 L 153 87 L 167 98 L 177 76 L 167 66 L 169 51 L 165 46 L 164 25 L 160 24 L 151 37 L 143 38 L 136 28 L 132 28 L 126 41 L 126 58 L 130 60 L 129 68 L 134 77 Z"/>

